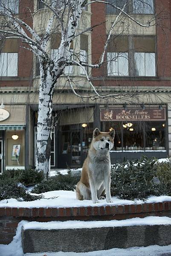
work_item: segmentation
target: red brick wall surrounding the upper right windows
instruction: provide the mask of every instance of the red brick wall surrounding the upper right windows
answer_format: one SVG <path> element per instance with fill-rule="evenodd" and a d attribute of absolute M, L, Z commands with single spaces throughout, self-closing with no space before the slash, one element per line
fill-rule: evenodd
<path fill-rule="evenodd" d="M 93 70 L 96 77 L 93 84 L 96 86 L 171 86 L 171 0 L 156 0 L 155 11 L 157 17 L 157 79 L 119 79 L 105 78 L 107 73 L 105 65 L 101 69 Z M 91 5 L 92 26 L 105 21 L 105 5 L 93 3 Z M 97 26 L 92 32 L 92 63 L 98 63 L 106 40 L 105 23 Z M 103 77 L 101 77 L 103 76 Z M 99 79 L 99 77 L 101 77 Z M 167 79 L 165 79 L 167 78 Z M 164 80 L 165 79 L 165 80 Z"/>

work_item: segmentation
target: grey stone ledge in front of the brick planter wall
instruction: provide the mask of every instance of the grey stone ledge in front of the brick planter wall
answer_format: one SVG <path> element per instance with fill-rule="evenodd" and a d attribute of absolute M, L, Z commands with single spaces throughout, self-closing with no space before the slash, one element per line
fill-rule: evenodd
<path fill-rule="evenodd" d="M 112 221 L 108 221 L 107 223 L 111 222 L 108 227 L 100 227 L 100 224 L 99 227 L 93 227 L 93 222 L 95 221 L 28 223 L 22 230 L 23 252 L 89 252 L 171 244 L 171 224 L 117 227 L 113 226 Z"/>

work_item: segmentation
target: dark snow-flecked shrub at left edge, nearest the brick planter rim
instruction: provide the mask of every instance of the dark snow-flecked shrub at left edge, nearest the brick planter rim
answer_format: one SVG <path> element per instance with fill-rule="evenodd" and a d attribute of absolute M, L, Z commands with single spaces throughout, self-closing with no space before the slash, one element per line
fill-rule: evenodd
<path fill-rule="evenodd" d="M 0 186 L 0 200 L 15 198 L 18 201 L 34 201 L 43 198 L 42 195 L 31 195 L 23 186 L 17 184 L 1 184 Z"/>

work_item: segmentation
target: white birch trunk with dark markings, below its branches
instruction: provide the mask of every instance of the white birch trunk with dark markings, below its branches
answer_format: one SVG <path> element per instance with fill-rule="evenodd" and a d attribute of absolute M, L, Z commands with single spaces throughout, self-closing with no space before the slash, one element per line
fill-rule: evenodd
<path fill-rule="evenodd" d="M 43 171 L 45 177 L 47 178 L 50 171 L 52 97 L 54 92 L 55 79 L 52 72 L 53 65 L 50 65 L 49 63 L 43 64 L 44 62 L 41 61 L 36 169 L 38 171 Z"/>

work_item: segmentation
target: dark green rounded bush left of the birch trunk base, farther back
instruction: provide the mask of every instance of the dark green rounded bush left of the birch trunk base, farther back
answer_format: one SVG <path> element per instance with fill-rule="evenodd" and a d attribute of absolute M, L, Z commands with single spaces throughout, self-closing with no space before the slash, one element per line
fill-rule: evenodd
<path fill-rule="evenodd" d="M 0 183 L 22 183 L 25 186 L 40 183 L 43 179 L 43 172 L 38 172 L 33 168 L 6 170 L 0 175 Z"/>

